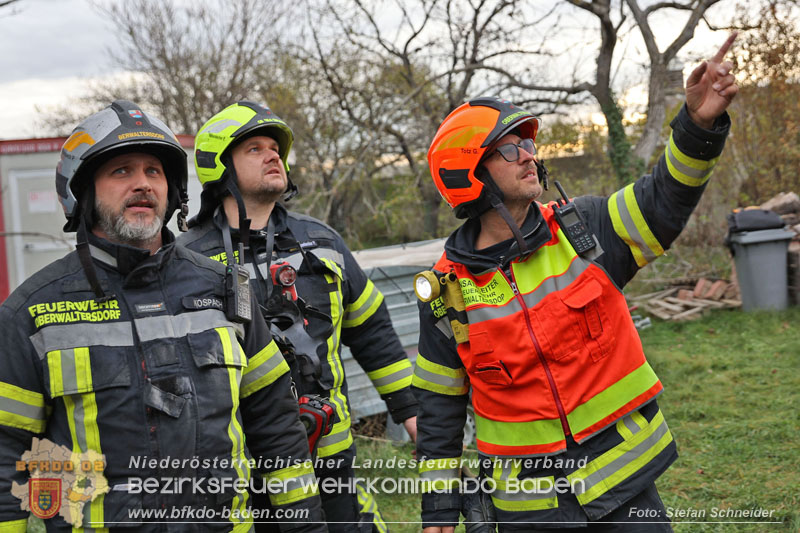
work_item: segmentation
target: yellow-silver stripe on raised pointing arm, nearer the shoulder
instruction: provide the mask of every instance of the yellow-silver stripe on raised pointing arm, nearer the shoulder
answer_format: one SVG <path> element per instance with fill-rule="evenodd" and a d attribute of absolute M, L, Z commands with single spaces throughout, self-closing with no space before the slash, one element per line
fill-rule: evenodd
<path fill-rule="evenodd" d="M 608 198 L 608 212 L 614 231 L 631 249 L 636 264 L 640 267 L 664 253 L 639 209 L 634 184 L 615 192 Z"/>

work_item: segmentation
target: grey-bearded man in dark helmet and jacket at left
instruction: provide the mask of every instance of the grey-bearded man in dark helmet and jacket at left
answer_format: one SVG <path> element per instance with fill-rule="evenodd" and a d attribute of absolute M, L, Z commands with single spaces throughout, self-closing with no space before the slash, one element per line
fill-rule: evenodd
<path fill-rule="evenodd" d="M 48 531 L 245 532 L 262 476 L 297 512 L 282 529 L 326 530 L 289 368 L 246 278 L 233 312 L 224 266 L 164 227 L 185 215 L 186 179 L 175 135 L 129 101 L 64 143 L 77 250 L 0 307 L 3 531 L 26 531 L 30 511 Z"/>

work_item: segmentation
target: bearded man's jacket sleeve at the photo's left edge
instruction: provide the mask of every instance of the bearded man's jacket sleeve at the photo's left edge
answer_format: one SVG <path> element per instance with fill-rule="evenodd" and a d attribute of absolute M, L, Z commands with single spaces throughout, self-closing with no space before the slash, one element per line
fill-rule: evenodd
<path fill-rule="evenodd" d="M 0 531 L 12 533 L 26 531 L 29 514 L 20 506 L 29 475 L 18 462 L 33 438 L 43 436 L 50 411 L 39 358 L 20 329 L 24 323 L 0 307 Z"/>

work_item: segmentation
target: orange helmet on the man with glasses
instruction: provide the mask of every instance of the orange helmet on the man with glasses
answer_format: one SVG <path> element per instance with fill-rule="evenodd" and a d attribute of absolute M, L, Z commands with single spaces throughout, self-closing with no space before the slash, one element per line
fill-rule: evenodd
<path fill-rule="evenodd" d="M 522 138 L 536 140 L 539 119 L 508 100 L 492 97 L 460 105 L 439 126 L 428 149 L 428 164 L 436 188 L 458 218 L 477 217 L 491 207 L 487 185 L 502 200 L 491 176 L 478 166 L 513 129 Z"/>

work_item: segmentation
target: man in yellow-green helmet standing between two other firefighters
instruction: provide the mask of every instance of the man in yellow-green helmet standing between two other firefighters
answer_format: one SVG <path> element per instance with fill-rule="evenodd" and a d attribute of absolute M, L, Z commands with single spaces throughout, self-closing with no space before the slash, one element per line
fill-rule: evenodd
<path fill-rule="evenodd" d="M 319 432 L 309 431 L 330 530 L 383 532 L 386 524 L 372 496 L 361 487 L 356 492 L 349 488 L 355 444 L 342 345 L 366 371 L 392 419 L 413 438 L 411 364 L 383 295 L 341 236 L 284 207 L 297 192 L 288 177 L 293 139 L 286 122 L 254 102 L 237 102 L 211 117 L 195 138 L 202 205 L 179 240 L 203 255 L 248 269 L 301 401 L 314 395 L 333 408 L 327 434 L 316 440 Z M 309 405 L 301 404 L 301 410 Z M 324 490 L 332 480 L 338 487 Z"/>

